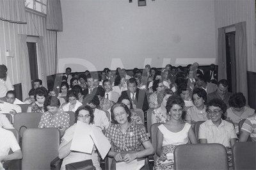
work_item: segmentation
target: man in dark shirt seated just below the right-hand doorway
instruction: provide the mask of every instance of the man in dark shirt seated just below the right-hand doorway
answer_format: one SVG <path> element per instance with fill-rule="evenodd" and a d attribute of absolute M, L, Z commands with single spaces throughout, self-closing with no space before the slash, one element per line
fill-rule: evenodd
<path fill-rule="evenodd" d="M 229 108 L 228 100 L 231 95 L 232 93 L 228 92 L 228 81 L 221 79 L 217 84 L 216 91 L 207 95 L 207 101 L 210 101 L 213 98 L 219 98 L 223 100 L 223 102 L 227 105 L 227 108 Z"/>

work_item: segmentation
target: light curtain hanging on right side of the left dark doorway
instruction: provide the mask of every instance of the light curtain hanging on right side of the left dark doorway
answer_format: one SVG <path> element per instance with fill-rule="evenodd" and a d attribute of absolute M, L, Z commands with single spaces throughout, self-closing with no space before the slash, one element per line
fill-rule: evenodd
<path fill-rule="evenodd" d="M 47 79 L 46 79 L 46 56 L 45 56 L 45 49 L 44 49 L 44 37 L 39 36 L 38 38 L 38 70 L 39 73 L 41 74 L 41 79 L 42 79 L 42 85 L 44 87 L 47 87 Z"/>

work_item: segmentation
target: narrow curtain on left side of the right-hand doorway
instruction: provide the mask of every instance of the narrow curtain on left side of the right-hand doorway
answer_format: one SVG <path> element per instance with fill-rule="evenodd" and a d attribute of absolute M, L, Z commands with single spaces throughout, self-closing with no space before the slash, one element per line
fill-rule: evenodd
<path fill-rule="evenodd" d="M 227 79 L 225 29 L 218 29 L 218 81 Z"/>

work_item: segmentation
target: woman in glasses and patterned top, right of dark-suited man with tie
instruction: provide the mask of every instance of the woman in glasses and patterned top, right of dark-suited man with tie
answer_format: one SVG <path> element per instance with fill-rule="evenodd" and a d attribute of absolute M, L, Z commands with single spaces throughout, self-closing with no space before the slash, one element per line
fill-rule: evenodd
<path fill-rule="evenodd" d="M 148 105 L 149 105 L 149 108 L 157 108 L 160 105 L 157 102 L 157 95 L 159 95 L 159 93 L 161 93 L 161 91 L 164 90 L 163 81 L 161 80 L 153 81 L 152 90 L 153 90 L 153 93 L 148 98 Z"/>

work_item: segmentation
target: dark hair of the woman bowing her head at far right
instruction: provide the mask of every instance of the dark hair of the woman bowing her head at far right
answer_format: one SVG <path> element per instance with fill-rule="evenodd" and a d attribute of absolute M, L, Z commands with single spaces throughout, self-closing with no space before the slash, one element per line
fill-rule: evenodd
<path fill-rule="evenodd" d="M 230 107 L 234 108 L 241 108 L 244 107 L 246 104 L 246 98 L 244 97 L 243 93 L 234 93 L 228 100 L 228 104 Z"/>

